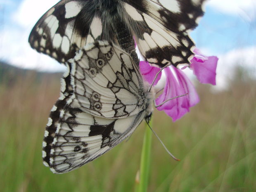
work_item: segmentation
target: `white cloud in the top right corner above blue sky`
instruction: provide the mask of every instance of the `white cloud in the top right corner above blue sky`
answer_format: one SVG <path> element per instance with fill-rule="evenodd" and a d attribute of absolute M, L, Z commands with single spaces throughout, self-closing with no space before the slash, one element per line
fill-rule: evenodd
<path fill-rule="evenodd" d="M 224 14 L 240 15 L 248 20 L 256 16 L 255 0 L 209 0 L 207 5 Z"/>

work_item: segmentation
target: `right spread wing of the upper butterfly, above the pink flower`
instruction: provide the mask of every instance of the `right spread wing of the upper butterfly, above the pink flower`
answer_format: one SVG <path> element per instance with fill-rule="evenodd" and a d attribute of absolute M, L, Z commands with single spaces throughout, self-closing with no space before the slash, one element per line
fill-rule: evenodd
<path fill-rule="evenodd" d="M 204 14 L 205 0 L 124 0 L 125 9 L 135 23 L 137 46 L 145 59 L 161 67 L 189 64 L 194 43 L 189 31 Z M 133 25 L 135 26 L 135 25 Z M 138 25 L 136 25 L 138 26 Z"/>

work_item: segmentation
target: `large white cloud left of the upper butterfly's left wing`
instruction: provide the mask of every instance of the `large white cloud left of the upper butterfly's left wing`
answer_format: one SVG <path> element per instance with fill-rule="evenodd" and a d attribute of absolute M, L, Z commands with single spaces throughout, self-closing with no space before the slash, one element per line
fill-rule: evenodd
<path fill-rule="evenodd" d="M 17 12 L 8 15 L 14 25 L 0 31 L 0 60 L 9 64 L 38 71 L 64 71 L 65 67 L 47 55 L 33 50 L 28 36 L 36 21 L 58 0 L 24 0 Z"/>

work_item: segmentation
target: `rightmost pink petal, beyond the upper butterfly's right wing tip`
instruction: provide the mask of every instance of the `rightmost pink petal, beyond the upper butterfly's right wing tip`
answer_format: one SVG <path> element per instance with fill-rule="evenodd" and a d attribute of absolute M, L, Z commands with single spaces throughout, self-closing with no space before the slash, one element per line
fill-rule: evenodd
<path fill-rule="evenodd" d="M 198 49 L 194 50 L 194 58 L 191 59 L 190 69 L 200 83 L 210 83 L 216 85 L 216 67 L 218 57 L 206 57 Z"/>

